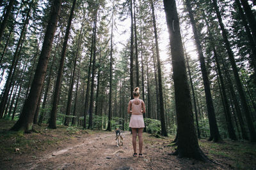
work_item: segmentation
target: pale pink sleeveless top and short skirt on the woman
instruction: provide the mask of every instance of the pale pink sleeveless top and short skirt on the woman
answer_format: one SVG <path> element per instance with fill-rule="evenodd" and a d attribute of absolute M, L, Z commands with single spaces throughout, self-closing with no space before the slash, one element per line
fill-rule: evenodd
<path fill-rule="evenodd" d="M 141 100 L 140 100 L 140 104 L 134 104 L 133 102 L 134 102 L 134 99 L 131 100 L 132 115 L 131 115 L 129 127 L 132 127 L 132 128 L 145 127 L 144 120 L 143 120 L 143 113 L 141 113 L 141 110 L 142 110 Z M 140 113 L 140 115 L 134 115 L 134 113 Z"/>

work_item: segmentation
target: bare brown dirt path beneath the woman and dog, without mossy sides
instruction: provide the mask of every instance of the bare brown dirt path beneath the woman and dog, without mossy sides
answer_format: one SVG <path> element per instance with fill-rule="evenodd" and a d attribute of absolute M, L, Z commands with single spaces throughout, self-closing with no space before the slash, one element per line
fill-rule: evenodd
<path fill-rule="evenodd" d="M 193 159 L 168 156 L 173 148 L 166 147 L 170 139 L 156 139 L 143 134 L 143 158 L 132 157 L 130 132 L 124 132 L 124 146 L 117 147 L 115 132 L 97 132 L 86 138 L 77 136 L 74 143 L 56 150 L 22 155 L 11 169 L 221 169 Z M 18 157 L 19 155 L 17 155 Z M 26 157 L 26 159 L 24 159 Z"/>

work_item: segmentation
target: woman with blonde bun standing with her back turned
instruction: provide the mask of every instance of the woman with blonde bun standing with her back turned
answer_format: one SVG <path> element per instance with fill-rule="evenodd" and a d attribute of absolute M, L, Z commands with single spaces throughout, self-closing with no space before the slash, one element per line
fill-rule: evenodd
<path fill-rule="evenodd" d="M 136 138 L 137 138 L 137 132 L 139 136 L 139 157 L 142 157 L 142 146 L 143 146 L 143 138 L 142 138 L 142 132 L 143 132 L 143 127 L 144 121 L 143 121 L 143 113 L 145 113 L 145 103 L 143 100 L 139 99 L 140 97 L 140 91 L 139 88 L 136 87 L 133 92 L 133 98 L 131 101 L 128 103 L 128 110 L 127 112 L 131 114 L 131 120 L 129 127 L 132 129 L 132 146 L 133 146 L 133 157 L 137 157 L 137 152 L 136 152 Z"/>

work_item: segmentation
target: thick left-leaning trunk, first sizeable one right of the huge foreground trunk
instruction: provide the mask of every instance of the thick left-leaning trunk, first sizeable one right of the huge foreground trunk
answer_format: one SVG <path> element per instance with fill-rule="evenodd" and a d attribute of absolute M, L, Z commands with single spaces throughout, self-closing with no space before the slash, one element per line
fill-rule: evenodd
<path fill-rule="evenodd" d="M 194 35 L 194 38 L 196 41 L 196 49 L 198 51 L 198 57 L 200 60 L 200 67 L 201 67 L 203 81 L 204 81 L 204 91 L 205 91 L 207 113 L 208 113 L 208 118 L 209 118 L 209 126 L 210 126 L 210 134 L 211 134 L 209 141 L 213 140 L 214 142 L 218 142 L 218 141 L 221 141 L 221 136 L 220 136 L 217 122 L 216 122 L 214 106 L 212 103 L 211 88 L 210 88 L 209 78 L 207 75 L 207 69 L 205 66 L 204 53 L 203 53 L 201 42 L 199 39 L 200 32 L 198 32 L 198 30 L 196 28 L 195 18 L 192 13 L 191 4 L 188 0 L 186 0 L 186 6 L 187 6 L 187 9 L 189 12 L 189 18 L 190 18 L 190 22 L 191 22 L 192 29 L 193 29 L 193 35 Z"/>

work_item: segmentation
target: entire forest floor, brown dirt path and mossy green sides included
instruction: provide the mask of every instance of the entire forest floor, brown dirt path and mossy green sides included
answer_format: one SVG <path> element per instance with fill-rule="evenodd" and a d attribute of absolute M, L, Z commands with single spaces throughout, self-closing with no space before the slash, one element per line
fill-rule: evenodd
<path fill-rule="evenodd" d="M 256 169 L 256 144 L 246 141 L 200 139 L 200 148 L 218 163 L 212 164 L 168 155 L 177 147 L 170 145 L 174 136 L 143 133 L 143 158 L 134 158 L 130 132 L 117 147 L 114 131 L 42 125 L 38 133 L 19 134 L 8 131 L 13 123 L 0 120 L 0 169 Z"/>

